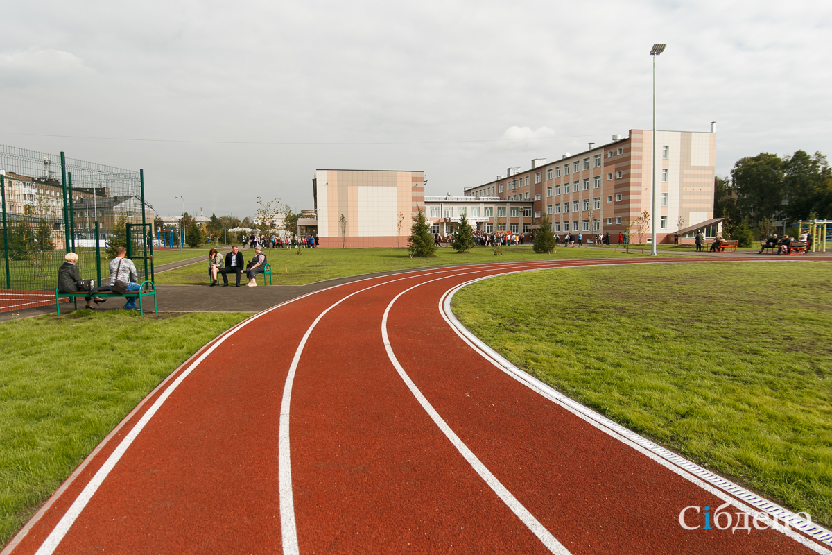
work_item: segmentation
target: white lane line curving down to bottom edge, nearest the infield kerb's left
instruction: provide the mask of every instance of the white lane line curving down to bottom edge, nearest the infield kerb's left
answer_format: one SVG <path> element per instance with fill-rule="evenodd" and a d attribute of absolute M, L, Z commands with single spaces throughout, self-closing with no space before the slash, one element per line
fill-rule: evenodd
<path fill-rule="evenodd" d="M 464 275 L 464 274 L 458 274 Z M 421 391 L 416 387 L 413 380 L 410 379 L 407 372 L 404 371 L 402 365 L 399 364 L 399 359 L 396 358 L 396 355 L 393 352 L 393 347 L 390 345 L 390 339 L 387 334 L 387 318 L 390 313 L 390 309 L 393 308 L 394 303 L 396 300 L 399 300 L 399 297 L 407 293 L 409 290 L 413 290 L 420 285 L 425 285 L 428 283 L 432 283 L 433 281 L 438 280 L 445 280 L 448 277 L 457 277 L 458 275 L 453 276 L 444 276 L 442 278 L 438 278 L 436 280 L 428 280 L 418 285 L 414 285 L 409 289 L 406 289 L 396 295 L 393 300 L 390 301 L 390 304 L 387 305 L 387 309 L 384 310 L 384 318 L 381 320 L 381 335 L 384 339 L 384 349 L 387 349 L 387 355 L 390 359 L 390 362 L 393 363 L 396 371 L 399 373 L 401 379 L 404 380 L 404 383 L 407 384 L 408 389 L 410 392 L 414 394 L 418 403 L 422 405 L 422 408 L 425 412 L 428 413 L 430 418 L 433 420 L 433 423 L 438 426 L 439 429 L 442 430 L 445 437 L 450 440 L 453 447 L 457 448 L 457 451 L 468 461 L 468 464 L 480 475 L 481 478 L 488 483 L 488 487 L 493 490 L 494 493 L 497 493 L 497 496 L 503 501 L 503 503 L 508 506 L 509 509 L 520 519 L 520 521 L 526 525 L 526 527 L 532 531 L 532 533 L 537 536 L 537 538 L 546 546 L 546 548 L 552 552 L 556 553 L 557 555 L 569 555 L 569 550 L 563 547 L 563 544 L 557 541 L 557 538 L 552 536 L 545 526 L 543 526 L 537 518 L 534 518 L 534 515 L 529 512 L 527 508 L 525 508 L 522 503 L 515 498 L 511 492 L 508 491 L 508 488 L 503 486 L 496 476 L 491 473 L 490 470 L 482 463 L 482 461 L 477 458 L 471 449 L 468 448 L 466 444 L 463 443 L 462 439 L 459 439 L 457 434 L 453 433 L 453 430 L 448 426 L 448 424 L 444 421 L 444 419 L 439 416 L 436 409 L 433 409 L 433 405 L 428 402 L 428 399 L 425 399 L 424 395 Z"/>

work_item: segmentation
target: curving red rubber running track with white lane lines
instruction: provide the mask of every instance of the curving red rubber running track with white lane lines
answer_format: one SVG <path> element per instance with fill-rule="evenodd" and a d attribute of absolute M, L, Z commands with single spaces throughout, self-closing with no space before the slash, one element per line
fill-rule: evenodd
<path fill-rule="evenodd" d="M 171 374 L 2 555 L 832 553 L 824 530 L 547 389 L 443 308 L 508 272 L 696 261 L 422 270 L 267 310 Z M 681 527 L 689 506 L 700 528 Z M 716 528 L 728 516 L 749 531 Z"/>

